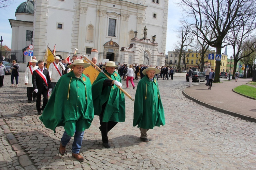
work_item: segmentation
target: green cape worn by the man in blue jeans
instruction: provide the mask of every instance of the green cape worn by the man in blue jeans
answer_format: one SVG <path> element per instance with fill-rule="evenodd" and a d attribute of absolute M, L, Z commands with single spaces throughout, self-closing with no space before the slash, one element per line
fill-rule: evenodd
<path fill-rule="evenodd" d="M 71 71 L 61 76 L 39 119 L 54 133 L 57 126 L 64 126 L 67 134 L 73 136 L 75 131 L 88 129 L 93 118 L 90 79 L 84 74 L 77 79 Z"/>

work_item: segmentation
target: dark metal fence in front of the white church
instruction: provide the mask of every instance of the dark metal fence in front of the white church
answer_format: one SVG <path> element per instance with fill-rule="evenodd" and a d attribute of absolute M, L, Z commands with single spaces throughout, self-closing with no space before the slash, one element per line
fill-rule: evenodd
<path fill-rule="evenodd" d="M 25 63 L 25 57 L 23 54 L 23 50 L 13 50 L 11 51 L 11 61 L 17 60 L 17 63 Z M 33 56 L 37 57 L 37 61 L 43 60 L 46 50 L 33 50 Z M 60 55 L 61 58 L 67 58 L 69 55 L 72 57 L 74 54 L 74 50 L 57 50 L 55 52 L 55 55 Z M 91 54 L 86 53 L 85 51 L 76 51 L 77 56 L 85 55 L 89 60 L 91 60 Z M 109 59 L 109 61 L 115 61 L 115 62 L 121 62 L 122 61 L 122 55 L 120 54 L 114 54 L 114 53 L 98 53 L 98 62 L 102 62 L 102 59 Z"/>

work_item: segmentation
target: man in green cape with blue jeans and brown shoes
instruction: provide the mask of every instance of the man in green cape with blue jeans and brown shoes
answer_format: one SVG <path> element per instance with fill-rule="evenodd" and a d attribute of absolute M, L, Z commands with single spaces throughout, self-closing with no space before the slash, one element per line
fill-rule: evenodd
<path fill-rule="evenodd" d="M 91 82 L 83 74 L 84 69 L 89 66 L 83 60 L 75 60 L 68 66 L 73 71 L 60 77 L 40 117 L 45 127 L 52 129 L 54 133 L 57 126 L 64 126 L 65 132 L 59 147 L 61 155 L 65 154 L 66 145 L 75 134 L 72 157 L 80 162 L 84 161 L 79 153 L 84 131 L 90 127 L 94 118 Z"/>

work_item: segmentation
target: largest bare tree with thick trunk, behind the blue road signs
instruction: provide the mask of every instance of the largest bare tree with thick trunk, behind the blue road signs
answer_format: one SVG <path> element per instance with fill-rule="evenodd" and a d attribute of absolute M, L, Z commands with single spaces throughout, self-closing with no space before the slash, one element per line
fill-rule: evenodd
<path fill-rule="evenodd" d="M 209 46 L 216 48 L 217 54 L 221 54 L 222 48 L 229 45 L 225 37 L 232 28 L 239 26 L 234 23 L 240 23 L 238 21 L 243 15 L 255 15 L 254 0 L 181 0 L 180 4 L 191 17 L 185 20 L 187 26 L 196 28 L 200 32 L 198 36 L 205 39 Z M 205 34 L 205 22 L 211 29 L 211 39 Z M 214 82 L 220 82 L 221 61 L 215 63 Z"/>

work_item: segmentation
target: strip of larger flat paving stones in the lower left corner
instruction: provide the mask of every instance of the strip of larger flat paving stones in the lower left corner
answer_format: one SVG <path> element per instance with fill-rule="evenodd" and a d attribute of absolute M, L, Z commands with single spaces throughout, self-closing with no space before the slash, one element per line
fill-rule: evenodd
<path fill-rule="evenodd" d="M 23 167 L 25 170 L 37 169 L 31 162 L 29 157 L 26 155 L 26 153 L 24 152 L 22 147 L 18 144 L 16 137 L 12 133 L 10 133 L 11 131 L 9 129 L 6 128 L 7 125 L 4 122 L 4 120 L 1 119 L 0 121 L 1 121 L 0 124 L 1 124 L 2 129 L 4 126 L 3 130 L 4 130 L 4 134 L 6 134 L 7 141 L 11 145 L 12 150 L 16 152 L 16 156 L 18 157 L 18 162 L 19 162 L 20 167 Z"/>

